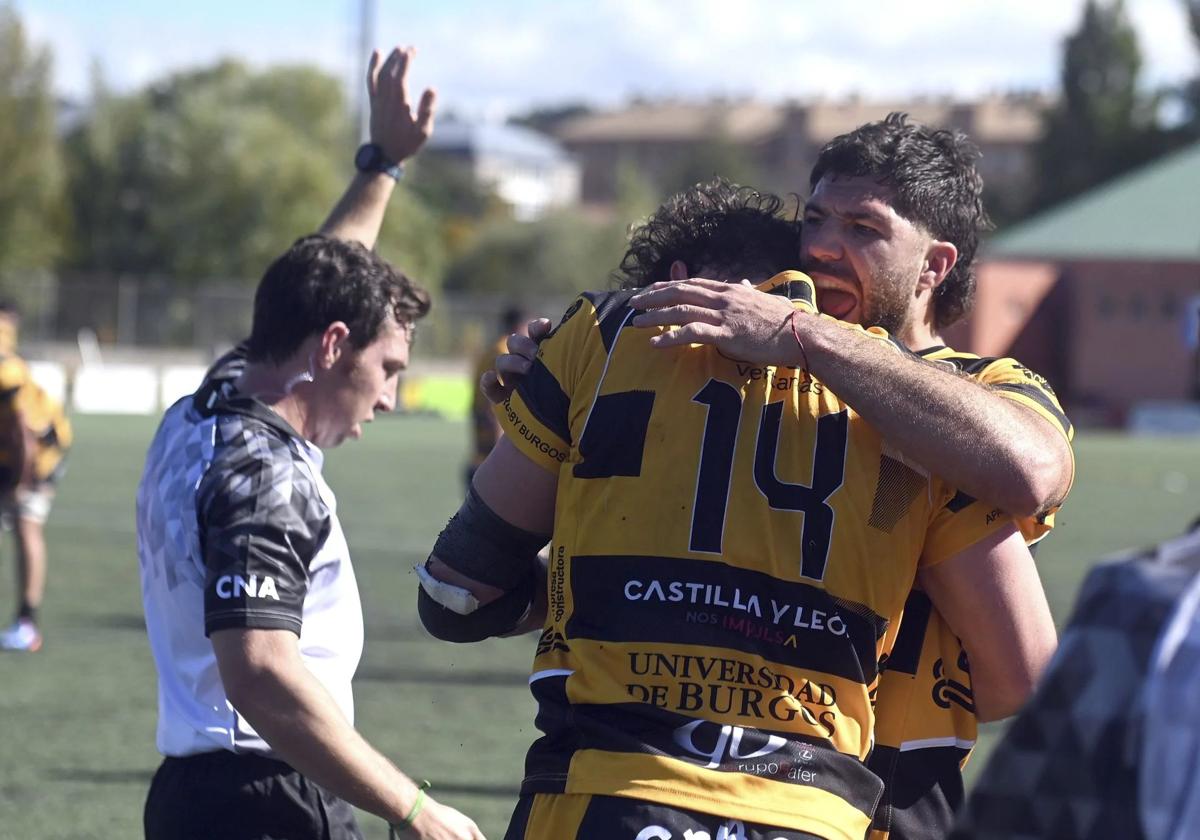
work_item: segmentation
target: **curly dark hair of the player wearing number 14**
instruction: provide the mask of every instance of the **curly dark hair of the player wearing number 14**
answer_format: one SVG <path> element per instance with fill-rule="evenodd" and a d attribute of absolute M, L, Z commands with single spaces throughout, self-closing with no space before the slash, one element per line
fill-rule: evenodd
<path fill-rule="evenodd" d="M 668 198 L 632 230 L 613 274 L 623 289 L 671 278 L 677 259 L 692 271 L 774 275 L 799 265 L 799 224 L 784 199 L 716 178 Z"/>

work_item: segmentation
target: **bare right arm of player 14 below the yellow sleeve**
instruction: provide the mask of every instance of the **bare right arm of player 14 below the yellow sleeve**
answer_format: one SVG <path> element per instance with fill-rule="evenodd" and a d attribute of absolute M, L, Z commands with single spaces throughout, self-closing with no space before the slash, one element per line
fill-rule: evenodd
<path fill-rule="evenodd" d="M 1037 566 L 1015 527 L 923 569 L 918 581 L 962 641 L 976 716 L 1015 714 L 1057 644 Z"/>

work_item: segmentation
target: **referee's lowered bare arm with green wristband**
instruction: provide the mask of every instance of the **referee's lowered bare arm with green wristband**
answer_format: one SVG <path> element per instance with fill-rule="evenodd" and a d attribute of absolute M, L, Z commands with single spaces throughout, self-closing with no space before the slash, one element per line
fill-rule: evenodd
<path fill-rule="evenodd" d="M 389 822 L 400 823 L 413 810 L 416 785 L 346 720 L 305 667 L 295 634 L 218 630 L 212 649 L 229 702 L 286 762 Z M 427 840 L 484 836 L 468 817 L 428 798 L 412 830 Z"/>

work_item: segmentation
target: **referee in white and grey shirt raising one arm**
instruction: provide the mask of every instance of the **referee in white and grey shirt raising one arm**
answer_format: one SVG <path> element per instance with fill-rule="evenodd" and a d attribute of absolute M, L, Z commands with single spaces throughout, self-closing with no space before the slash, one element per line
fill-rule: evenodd
<path fill-rule="evenodd" d="M 320 233 L 268 268 L 250 337 L 169 408 L 138 487 L 158 670 L 151 840 L 360 838 L 350 805 L 424 840 L 478 840 L 353 726 L 362 608 L 323 454 L 391 410 L 428 295 L 371 251 L 433 127 L 410 49 L 371 58 L 371 143 Z"/>

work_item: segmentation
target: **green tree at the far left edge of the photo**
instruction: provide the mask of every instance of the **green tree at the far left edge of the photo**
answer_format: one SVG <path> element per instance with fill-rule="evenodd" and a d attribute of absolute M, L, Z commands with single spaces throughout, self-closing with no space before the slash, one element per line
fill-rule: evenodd
<path fill-rule="evenodd" d="M 0 272 L 48 269 L 65 227 L 50 55 L 0 5 Z"/>

